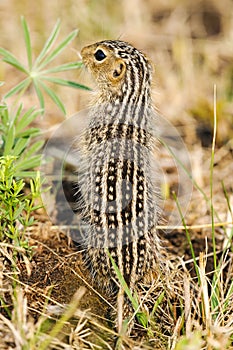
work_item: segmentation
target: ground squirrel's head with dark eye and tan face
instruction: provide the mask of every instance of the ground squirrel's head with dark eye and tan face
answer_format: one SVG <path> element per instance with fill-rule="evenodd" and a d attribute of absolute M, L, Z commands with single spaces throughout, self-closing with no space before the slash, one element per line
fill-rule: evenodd
<path fill-rule="evenodd" d="M 149 60 L 124 41 L 106 40 L 86 46 L 81 56 L 100 92 L 108 96 L 119 96 L 122 89 L 136 91 L 143 83 L 150 84 L 152 68 Z"/>

